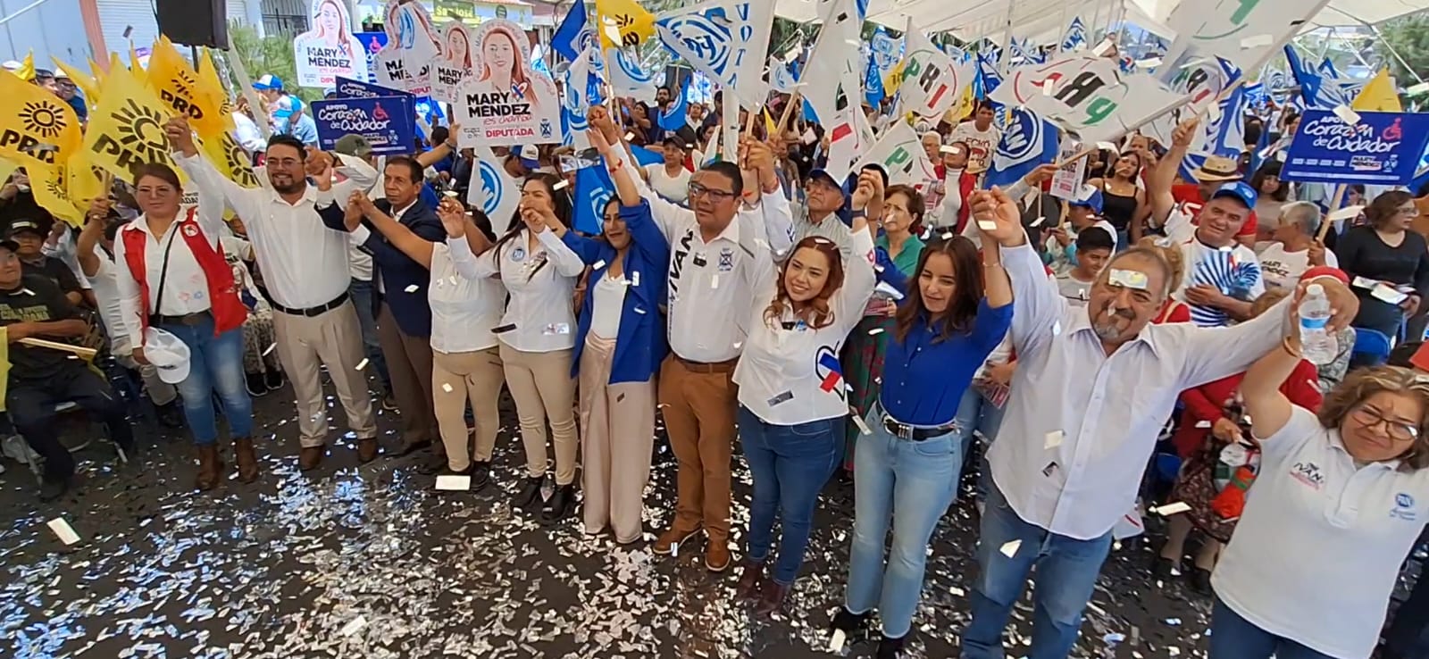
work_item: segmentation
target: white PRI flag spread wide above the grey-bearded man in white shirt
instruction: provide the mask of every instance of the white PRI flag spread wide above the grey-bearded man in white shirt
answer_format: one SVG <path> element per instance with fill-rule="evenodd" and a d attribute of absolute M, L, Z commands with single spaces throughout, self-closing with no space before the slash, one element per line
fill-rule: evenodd
<path fill-rule="evenodd" d="M 996 103 L 1026 107 L 1083 143 L 1116 142 L 1185 104 L 1186 94 L 1145 74 L 1122 74 L 1116 60 L 1066 53 L 1046 64 L 1013 69 L 990 94 Z"/>

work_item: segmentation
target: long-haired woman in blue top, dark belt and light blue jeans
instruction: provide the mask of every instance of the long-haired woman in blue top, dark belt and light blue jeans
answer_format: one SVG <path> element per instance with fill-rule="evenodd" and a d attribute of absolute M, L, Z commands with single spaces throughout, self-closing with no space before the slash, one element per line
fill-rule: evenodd
<path fill-rule="evenodd" d="M 1012 324 L 1012 283 L 997 250 L 979 259 L 967 237 L 930 242 L 893 319 L 883 390 L 853 459 L 849 586 L 833 618 L 833 629 L 852 636 L 876 606 L 879 658 L 896 658 L 903 648 L 923 592 L 927 542 L 957 490 L 957 403 Z"/>

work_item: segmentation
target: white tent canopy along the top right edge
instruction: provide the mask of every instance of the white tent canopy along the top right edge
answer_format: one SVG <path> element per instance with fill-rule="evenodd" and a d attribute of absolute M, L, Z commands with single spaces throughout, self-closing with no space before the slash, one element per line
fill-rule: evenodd
<path fill-rule="evenodd" d="M 1166 19 L 1179 1 L 1195 0 L 1122 0 L 1127 21 L 1146 30 L 1169 37 Z M 819 0 L 776 0 L 776 13 L 796 23 L 817 23 Z M 1033 39 L 1050 43 L 1065 30 L 1063 21 L 1072 16 L 1092 27 L 1096 14 L 1097 26 L 1106 26 L 1112 19 L 1115 0 L 1085 1 L 1077 10 L 1067 7 L 1067 0 L 869 0 L 869 20 L 902 30 L 909 17 L 929 33 L 952 31 L 960 39 L 1000 37 L 1007 23 L 1007 9 L 1012 6 L 1013 34 L 1019 39 Z M 1330 0 L 1309 27 L 1345 27 L 1379 24 L 1399 16 L 1429 9 L 1429 0 Z M 1116 9 L 1120 11 L 1120 7 Z"/>

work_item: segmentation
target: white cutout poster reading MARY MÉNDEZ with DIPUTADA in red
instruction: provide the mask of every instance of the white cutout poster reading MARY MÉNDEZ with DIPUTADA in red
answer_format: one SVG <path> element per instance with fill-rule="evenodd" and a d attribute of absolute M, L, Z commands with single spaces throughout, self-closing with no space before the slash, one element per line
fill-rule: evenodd
<path fill-rule="evenodd" d="M 560 96 L 530 66 L 530 40 L 509 20 L 482 23 L 473 34 L 476 66 L 453 103 L 463 147 L 560 142 Z"/>

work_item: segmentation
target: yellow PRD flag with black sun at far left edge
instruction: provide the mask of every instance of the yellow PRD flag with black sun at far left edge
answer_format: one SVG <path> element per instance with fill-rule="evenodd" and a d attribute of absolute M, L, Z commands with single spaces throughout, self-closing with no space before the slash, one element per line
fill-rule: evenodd
<path fill-rule="evenodd" d="M 63 163 L 80 147 L 80 119 L 47 89 L 0 73 L 0 157 L 23 166 Z"/>

